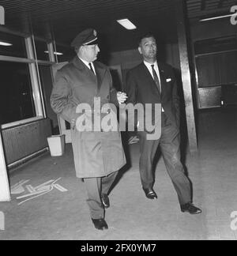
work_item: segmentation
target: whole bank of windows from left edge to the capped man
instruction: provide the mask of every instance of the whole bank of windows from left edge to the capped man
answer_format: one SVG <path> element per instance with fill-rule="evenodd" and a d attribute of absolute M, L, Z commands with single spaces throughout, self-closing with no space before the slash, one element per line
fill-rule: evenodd
<path fill-rule="evenodd" d="M 33 36 L 0 32 L 0 126 L 11 126 L 51 118 L 51 64 L 48 51 L 53 43 Z M 41 85 L 41 86 L 40 86 Z"/>

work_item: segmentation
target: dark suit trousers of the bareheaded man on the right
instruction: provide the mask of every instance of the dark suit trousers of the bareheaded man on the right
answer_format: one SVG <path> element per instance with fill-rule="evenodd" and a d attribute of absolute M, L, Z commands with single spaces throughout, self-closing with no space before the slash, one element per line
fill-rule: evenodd
<path fill-rule="evenodd" d="M 159 140 L 146 140 L 146 133 L 139 132 L 140 137 L 140 176 L 143 188 L 152 188 L 155 180 L 152 170 L 153 160 L 156 150 L 160 145 L 164 164 L 166 165 L 168 175 L 175 186 L 180 205 L 191 201 L 190 181 L 185 175 L 182 163 L 180 161 L 180 134 L 179 130 L 172 125 L 166 115 L 161 115 L 161 136 Z"/>

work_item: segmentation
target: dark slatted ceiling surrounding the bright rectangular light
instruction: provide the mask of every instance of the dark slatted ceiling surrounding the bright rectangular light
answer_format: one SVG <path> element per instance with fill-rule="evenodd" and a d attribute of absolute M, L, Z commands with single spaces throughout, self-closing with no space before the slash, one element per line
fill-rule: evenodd
<path fill-rule="evenodd" d="M 159 41 L 177 40 L 174 0 L 0 0 L 6 27 L 70 45 L 82 29 L 92 27 L 110 51 L 134 48 L 137 36 L 152 31 Z M 186 0 L 191 21 L 227 13 L 236 0 Z M 127 31 L 116 20 L 129 18 L 137 30 Z"/>

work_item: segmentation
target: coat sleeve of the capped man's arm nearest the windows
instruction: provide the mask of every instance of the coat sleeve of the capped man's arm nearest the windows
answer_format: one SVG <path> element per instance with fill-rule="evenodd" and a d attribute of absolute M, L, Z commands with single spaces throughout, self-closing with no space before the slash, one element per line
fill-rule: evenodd
<path fill-rule="evenodd" d="M 65 74 L 60 70 L 56 73 L 51 92 L 51 107 L 56 114 L 62 116 L 62 119 L 71 124 L 75 122 L 77 103 L 73 102 L 72 89 Z"/>

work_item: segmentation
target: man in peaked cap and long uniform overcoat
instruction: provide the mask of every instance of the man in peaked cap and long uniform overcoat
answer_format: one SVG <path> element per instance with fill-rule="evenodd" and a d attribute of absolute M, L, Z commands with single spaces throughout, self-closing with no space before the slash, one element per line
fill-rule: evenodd
<path fill-rule="evenodd" d="M 108 67 L 96 61 L 100 48 L 94 29 L 79 33 L 71 46 L 77 56 L 56 73 L 51 107 L 71 124 L 76 175 L 84 179 L 92 222 L 103 230 L 108 228 L 104 220 L 104 209 L 110 205 L 107 193 L 126 158 L 119 130 L 104 131 L 98 126 L 98 116 L 103 118 L 106 113 L 96 109 L 95 104 L 99 100 L 101 107 L 109 103 L 119 106 L 126 95 L 113 87 Z M 89 109 L 80 113 L 77 110 L 82 104 Z M 80 130 L 81 117 L 88 121 L 88 128 L 92 125 L 99 129 Z"/>

